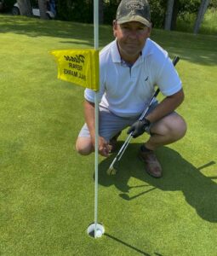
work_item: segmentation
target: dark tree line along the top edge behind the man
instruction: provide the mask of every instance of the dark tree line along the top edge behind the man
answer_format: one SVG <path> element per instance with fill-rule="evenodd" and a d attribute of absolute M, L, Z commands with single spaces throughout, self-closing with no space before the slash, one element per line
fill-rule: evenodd
<path fill-rule="evenodd" d="M 17 0 L 22 15 L 31 15 L 31 2 Z M 37 0 L 42 19 L 47 19 L 46 5 L 49 0 Z M 100 24 L 111 24 L 121 0 L 99 0 Z M 55 0 L 57 19 L 93 23 L 94 0 Z M 186 14 L 197 14 L 194 33 L 197 34 L 208 8 L 217 9 L 217 0 L 150 0 L 151 21 L 154 27 L 175 30 L 177 19 Z"/>

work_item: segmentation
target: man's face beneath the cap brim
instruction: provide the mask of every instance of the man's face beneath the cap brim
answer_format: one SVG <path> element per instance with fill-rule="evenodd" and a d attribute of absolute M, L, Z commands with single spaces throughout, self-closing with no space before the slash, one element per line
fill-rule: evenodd
<path fill-rule="evenodd" d="M 113 22 L 113 33 L 124 61 L 136 61 L 149 38 L 151 28 L 138 21 L 130 21 L 118 25 Z"/>

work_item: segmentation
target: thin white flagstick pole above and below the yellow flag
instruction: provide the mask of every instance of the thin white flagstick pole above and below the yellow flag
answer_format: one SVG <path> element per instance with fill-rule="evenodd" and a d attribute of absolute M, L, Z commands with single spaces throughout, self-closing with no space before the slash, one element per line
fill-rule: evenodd
<path fill-rule="evenodd" d="M 99 49 L 99 0 L 94 0 L 94 49 Z M 98 221 L 98 142 L 99 142 L 99 102 L 98 92 L 94 96 L 95 104 L 95 201 L 94 201 L 94 238 Z"/>

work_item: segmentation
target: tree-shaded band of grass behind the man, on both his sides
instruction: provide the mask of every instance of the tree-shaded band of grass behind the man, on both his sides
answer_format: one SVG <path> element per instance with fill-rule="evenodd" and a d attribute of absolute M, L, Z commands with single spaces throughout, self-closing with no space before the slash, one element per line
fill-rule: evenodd
<path fill-rule="evenodd" d="M 13 32 L 29 37 L 60 38 L 60 44 L 76 44 L 93 47 L 93 24 L 61 21 L 40 20 L 25 16 L 0 15 L 0 32 Z M 171 38 L 173 38 L 171 40 Z M 100 26 L 100 48 L 113 40 L 112 26 Z M 214 66 L 217 65 L 217 37 L 213 35 L 193 35 L 186 32 L 166 32 L 153 29 L 151 39 L 168 50 L 169 55 L 180 55 L 180 58 L 193 63 Z"/>

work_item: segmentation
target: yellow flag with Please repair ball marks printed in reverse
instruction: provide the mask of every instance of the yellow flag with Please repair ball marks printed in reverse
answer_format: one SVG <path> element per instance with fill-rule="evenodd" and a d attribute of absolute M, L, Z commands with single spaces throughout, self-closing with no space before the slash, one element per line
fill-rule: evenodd
<path fill-rule="evenodd" d="M 99 50 L 57 49 L 51 54 L 58 64 L 58 79 L 99 90 Z"/>

